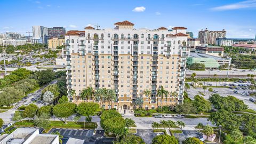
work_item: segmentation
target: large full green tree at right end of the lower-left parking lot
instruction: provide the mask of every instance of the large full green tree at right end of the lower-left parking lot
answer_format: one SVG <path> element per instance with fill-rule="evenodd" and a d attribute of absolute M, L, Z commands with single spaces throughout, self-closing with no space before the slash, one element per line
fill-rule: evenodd
<path fill-rule="evenodd" d="M 106 119 L 103 124 L 105 125 L 104 130 L 106 132 L 114 133 L 116 140 L 119 141 L 119 138 L 124 132 L 125 129 L 125 120 L 123 117 L 114 117 Z"/>

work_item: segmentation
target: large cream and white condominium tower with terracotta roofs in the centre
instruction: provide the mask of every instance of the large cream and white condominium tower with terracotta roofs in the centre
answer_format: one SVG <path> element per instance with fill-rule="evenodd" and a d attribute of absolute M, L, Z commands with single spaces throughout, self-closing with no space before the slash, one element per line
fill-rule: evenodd
<path fill-rule="evenodd" d="M 145 109 L 182 103 L 188 35 L 184 27 L 171 31 L 134 29 L 129 21 L 115 23 L 114 29 L 68 31 L 65 35 L 67 88 L 69 99 L 76 103 L 86 87 L 114 89 L 117 99 L 105 108 L 134 109 L 135 100 L 143 99 Z M 177 95 L 157 97 L 160 86 Z M 75 91 L 76 97 L 71 96 Z M 143 92 L 150 90 L 150 95 Z M 73 92 L 74 92 L 73 91 Z"/>

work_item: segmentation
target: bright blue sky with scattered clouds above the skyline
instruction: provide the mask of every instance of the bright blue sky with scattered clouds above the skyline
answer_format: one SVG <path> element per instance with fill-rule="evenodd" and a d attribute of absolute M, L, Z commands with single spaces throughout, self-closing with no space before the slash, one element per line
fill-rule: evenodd
<path fill-rule="evenodd" d="M 0 33 L 26 34 L 32 26 L 83 30 L 114 28 L 128 20 L 135 28 L 182 26 L 197 37 L 201 29 L 227 31 L 228 38 L 254 38 L 256 0 L 0 0 Z"/>

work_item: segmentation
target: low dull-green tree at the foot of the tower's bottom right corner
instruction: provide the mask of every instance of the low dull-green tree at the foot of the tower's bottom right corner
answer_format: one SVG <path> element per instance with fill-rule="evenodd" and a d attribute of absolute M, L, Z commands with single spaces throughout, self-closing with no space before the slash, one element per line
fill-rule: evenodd
<path fill-rule="evenodd" d="M 177 105 L 175 107 L 175 111 L 179 114 L 193 114 L 196 112 L 196 108 L 192 105 L 192 103 L 183 103 L 181 105 Z"/>

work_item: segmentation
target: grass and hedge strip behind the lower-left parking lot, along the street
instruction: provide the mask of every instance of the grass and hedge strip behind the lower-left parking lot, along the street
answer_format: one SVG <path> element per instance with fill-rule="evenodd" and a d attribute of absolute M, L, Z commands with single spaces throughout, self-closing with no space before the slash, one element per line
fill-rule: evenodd
<path fill-rule="evenodd" d="M 23 122 L 14 123 L 15 126 L 35 126 L 33 121 L 24 120 Z M 70 129 L 95 129 L 97 123 L 87 123 L 87 122 L 67 122 L 67 124 L 62 121 L 50 121 L 51 128 L 70 128 Z"/>

